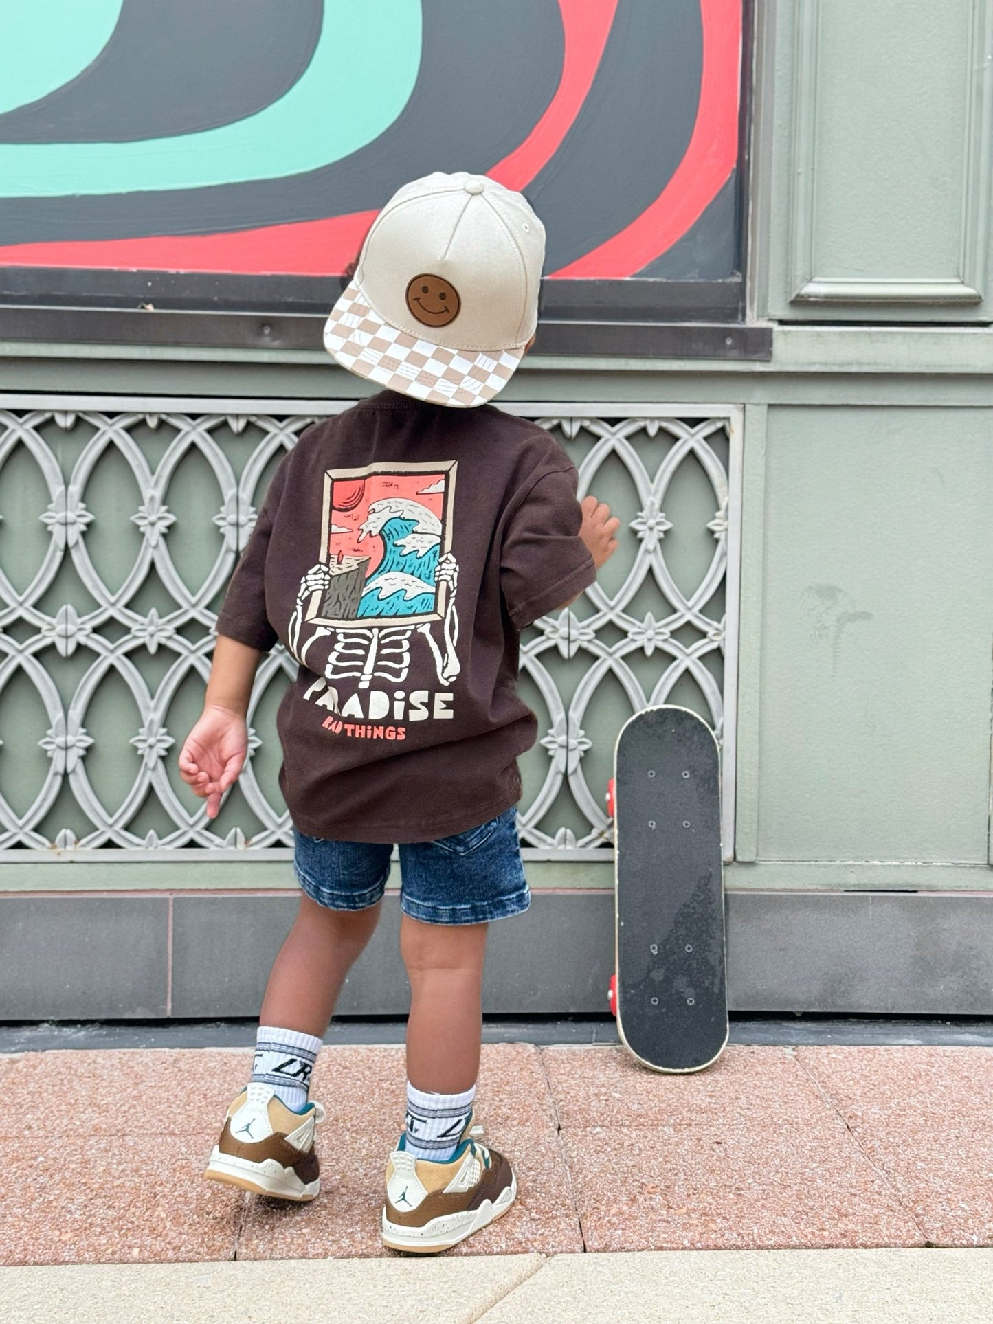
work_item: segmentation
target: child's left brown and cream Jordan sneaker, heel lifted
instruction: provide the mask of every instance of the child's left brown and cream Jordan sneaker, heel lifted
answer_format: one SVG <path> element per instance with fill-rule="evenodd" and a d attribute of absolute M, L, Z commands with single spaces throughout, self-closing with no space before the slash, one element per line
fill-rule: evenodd
<path fill-rule="evenodd" d="M 294 1112 L 271 1086 L 253 1080 L 228 1108 L 204 1176 L 257 1196 L 312 1200 L 320 1190 L 314 1127 L 326 1116 L 319 1103 Z"/>

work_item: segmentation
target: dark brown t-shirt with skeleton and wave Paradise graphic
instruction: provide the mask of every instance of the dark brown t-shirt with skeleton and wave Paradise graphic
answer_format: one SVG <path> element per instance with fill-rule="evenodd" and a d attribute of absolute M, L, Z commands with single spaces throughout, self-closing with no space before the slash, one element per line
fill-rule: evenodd
<path fill-rule="evenodd" d="M 217 633 L 299 663 L 277 727 L 301 831 L 433 841 L 518 801 L 519 632 L 594 577 L 576 485 L 536 424 L 391 391 L 283 457 Z"/>

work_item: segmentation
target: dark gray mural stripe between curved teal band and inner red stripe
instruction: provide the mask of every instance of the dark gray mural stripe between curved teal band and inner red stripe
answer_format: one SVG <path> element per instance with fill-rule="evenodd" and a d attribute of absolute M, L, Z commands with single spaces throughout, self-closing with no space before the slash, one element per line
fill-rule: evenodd
<path fill-rule="evenodd" d="M 273 180 L 3 199 L 0 242 L 209 234 L 377 211 L 420 175 L 485 172 L 502 160 L 544 114 L 559 86 L 563 54 L 556 0 L 424 0 L 417 82 L 400 115 L 369 146 L 319 169 Z M 342 58 L 361 53 L 342 52 Z"/>

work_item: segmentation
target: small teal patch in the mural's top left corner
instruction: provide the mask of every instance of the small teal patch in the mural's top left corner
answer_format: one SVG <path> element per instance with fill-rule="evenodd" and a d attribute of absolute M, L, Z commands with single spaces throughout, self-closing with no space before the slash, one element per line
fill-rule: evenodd
<path fill-rule="evenodd" d="M 48 97 L 93 64 L 123 0 L 8 0 L 0 5 L 0 115 Z"/>

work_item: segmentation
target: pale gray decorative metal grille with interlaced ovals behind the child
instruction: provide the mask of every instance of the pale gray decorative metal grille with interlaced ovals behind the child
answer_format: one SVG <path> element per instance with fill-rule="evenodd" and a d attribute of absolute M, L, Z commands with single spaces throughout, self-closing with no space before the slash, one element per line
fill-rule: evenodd
<path fill-rule="evenodd" d="M 260 667 L 250 756 L 213 824 L 175 756 L 269 477 L 305 428 L 350 404 L 0 397 L 1 858 L 287 854 L 282 649 Z M 580 494 L 622 519 L 597 584 L 523 639 L 522 692 L 543 735 L 522 760 L 522 841 L 556 859 L 598 855 L 621 723 L 682 703 L 723 737 L 730 858 L 739 412 L 507 408 L 557 436 Z"/>

